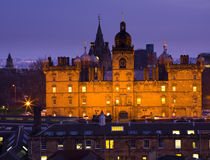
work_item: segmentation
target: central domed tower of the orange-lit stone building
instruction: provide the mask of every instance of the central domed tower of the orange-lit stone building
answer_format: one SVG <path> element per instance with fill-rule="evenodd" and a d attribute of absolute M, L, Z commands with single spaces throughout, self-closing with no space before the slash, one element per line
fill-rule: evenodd
<path fill-rule="evenodd" d="M 120 121 L 132 119 L 134 47 L 126 32 L 126 23 L 120 23 L 120 32 L 115 36 L 112 48 L 113 112 Z"/>

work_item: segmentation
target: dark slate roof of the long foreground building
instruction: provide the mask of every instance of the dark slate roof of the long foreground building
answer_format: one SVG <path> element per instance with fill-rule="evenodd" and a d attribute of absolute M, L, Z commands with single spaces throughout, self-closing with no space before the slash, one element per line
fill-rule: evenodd
<path fill-rule="evenodd" d="M 122 126 L 123 131 L 111 131 L 112 126 Z M 89 124 L 53 124 L 38 134 L 42 136 L 126 136 L 126 135 L 172 135 L 173 130 L 179 130 L 180 135 L 187 135 L 187 130 L 194 130 L 195 134 L 200 131 L 210 131 L 208 122 L 177 122 L 177 123 L 109 123 L 99 126 L 98 123 Z"/>

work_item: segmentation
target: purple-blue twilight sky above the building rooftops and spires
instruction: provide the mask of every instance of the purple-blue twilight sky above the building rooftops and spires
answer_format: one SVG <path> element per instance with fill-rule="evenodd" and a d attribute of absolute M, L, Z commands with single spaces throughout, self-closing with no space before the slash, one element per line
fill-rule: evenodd
<path fill-rule="evenodd" d="M 111 49 L 122 12 L 135 49 L 154 43 L 159 56 L 166 40 L 174 58 L 210 52 L 210 0 L 0 0 L 0 58 L 81 55 L 98 14 Z"/>

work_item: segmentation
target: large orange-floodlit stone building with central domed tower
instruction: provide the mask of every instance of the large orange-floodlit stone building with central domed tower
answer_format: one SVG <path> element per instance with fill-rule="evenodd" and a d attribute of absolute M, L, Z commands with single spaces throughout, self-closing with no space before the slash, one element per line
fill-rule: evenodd
<path fill-rule="evenodd" d="M 127 121 L 142 116 L 201 116 L 201 73 L 203 59 L 180 64 L 164 52 L 154 65 L 134 68 L 134 46 L 125 22 L 115 36 L 112 69 L 105 70 L 100 57 L 85 53 L 73 59 L 51 58 L 44 63 L 48 115 L 88 117 L 103 111 L 114 120 Z"/>

